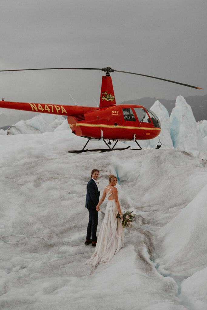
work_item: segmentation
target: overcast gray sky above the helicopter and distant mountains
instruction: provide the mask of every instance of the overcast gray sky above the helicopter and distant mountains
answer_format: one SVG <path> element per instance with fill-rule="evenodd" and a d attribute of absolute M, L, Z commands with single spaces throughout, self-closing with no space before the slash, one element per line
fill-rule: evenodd
<path fill-rule="evenodd" d="M 207 94 L 206 0 L 2 0 L 1 69 L 110 66 L 117 103 Z M 102 71 L 0 73 L 4 100 L 99 104 Z M 47 100 L 45 99 L 47 98 Z"/>

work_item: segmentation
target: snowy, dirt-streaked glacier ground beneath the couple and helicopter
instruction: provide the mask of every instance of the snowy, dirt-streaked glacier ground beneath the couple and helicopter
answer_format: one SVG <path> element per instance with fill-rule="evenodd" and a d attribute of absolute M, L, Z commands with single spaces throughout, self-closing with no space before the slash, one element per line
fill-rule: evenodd
<path fill-rule="evenodd" d="M 71 154 L 85 139 L 58 128 L 0 136 L 1 309 L 206 309 L 206 157 L 174 148 Z M 90 276 L 94 167 L 101 193 L 117 175 L 121 205 L 137 217 L 124 248 Z"/>

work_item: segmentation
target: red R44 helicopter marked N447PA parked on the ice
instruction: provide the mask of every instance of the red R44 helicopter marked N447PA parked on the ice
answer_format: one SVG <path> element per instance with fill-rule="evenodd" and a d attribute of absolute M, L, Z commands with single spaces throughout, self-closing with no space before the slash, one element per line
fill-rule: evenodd
<path fill-rule="evenodd" d="M 42 69 L 16 69 L 16 70 L 0 70 L 6 71 L 28 71 L 28 70 L 53 70 L 53 69 L 79 69 L 79 70 L 101 70 L 106 72 L 106 76 L 102 77 L 101 96 L 99 107 L 88 106 L 71 106 L 58 104 L 39 104 L 27 102 L 11 102 L 0 101 L 0 108 L 10 108 L 24 111 L 34 111 L 39 113 L 50 113 L 67 116 L 69 126 L 72 133 L 78 136 L 87 138 L 88 141 L 82 150 L 68 151 L 71 153 L 81 153 L 86 151 L 111 151 L 115 149 L 115 145 L 119 140 L 135 141 L 140 149 L 141 146 L 137 140 L 153 139 L 160 134 L 161 126 L 158 117 L 150 109 L 140 105 L 116 104 L 115 95 L 110 77 L 111 72 L 122 72 L 129 74 L 141 75 L 149 78 L 156 78 L 149 75 L 132 73 L 127 71 L 119 71 L 105 68 L 42 68 Z M 172 82 L 196 89 L 201 89 L 196 86 L 174 82 L 162 78 L 159 80 Z M 103 140 L 107 145 L 107 149 L 85 149 L 86 145 L 91 139 Z M 106 140 L 109 140 L 107 143 Z M 113 147 L 110 147 L 111 142 L 114 141 Z M 157 148 L 160 148 L 158 145 Z"/>

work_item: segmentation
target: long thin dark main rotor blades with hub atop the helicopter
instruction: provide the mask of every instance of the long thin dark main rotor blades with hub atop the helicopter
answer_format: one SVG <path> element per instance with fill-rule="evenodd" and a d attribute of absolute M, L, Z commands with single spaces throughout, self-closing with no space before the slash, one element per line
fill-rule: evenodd
<path fill-rule="evenodd" d="M 140 74 L 140 73 L 134 73 L 134 72 L 128 72 L 128 71 L 119 71 L 119 70 L 114 70 L 111 69 L 110 67 L 105 67 L 105 68 L 38 68 L 38 69 L 13 69 L 13 70 L 0 70 L 0 72 L 8 72 L 8 71 L 31 71 L 31 70 L 67 70 L 67 69 L 71 69 L 71 70 L 101 70 L 101 71 L 105 71 L 108 73 L 108 75 L 110 75 L 110 72 L 122 72 L 122 73 L 128 73 L 128 74 L 135 74 L 135 75 L 140 75 L 143 77 L 147 77 L 147 78 L 155 78 L 157 80 L 162 80 L 162 81 L 166 81 L 166 82 L 170 82 L 170 83 L 175 83 L 175 84 L 179 84 L 179 85 L 183 85 L 183 86 L 187 86 L 187 87 L 192 87 L 192 88 L 196 88 L 196 89 L 202 89 L 200 87 L 196 87 L 196 86 L 192 86 L 192 85 L 188 85 L 188 84 L 184 84 L 184 83 L 180 83 L 180 82 L 175 82 L 175 81 L 171 81 L 171 80 L 166 80 L 164 78 L 157 78 L 157 77 L 153 77 L 151 75 L 145 75 L 145 74 Z"/>

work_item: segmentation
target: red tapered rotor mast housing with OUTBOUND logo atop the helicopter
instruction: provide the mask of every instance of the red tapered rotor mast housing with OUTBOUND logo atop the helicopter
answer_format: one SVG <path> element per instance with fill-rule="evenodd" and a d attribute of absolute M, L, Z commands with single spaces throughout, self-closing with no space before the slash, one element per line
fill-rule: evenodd
<path fill-rule="evenodd" d="M 111 77 L 103 76 L 101 84 L 101 97 L 100 97 L 100 107 L 108 107 L 110 105 L 115 105 L 115 95 L 112 85 Z"/>

